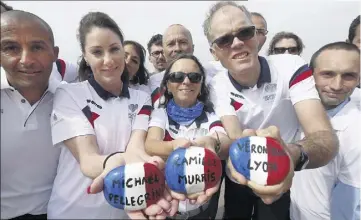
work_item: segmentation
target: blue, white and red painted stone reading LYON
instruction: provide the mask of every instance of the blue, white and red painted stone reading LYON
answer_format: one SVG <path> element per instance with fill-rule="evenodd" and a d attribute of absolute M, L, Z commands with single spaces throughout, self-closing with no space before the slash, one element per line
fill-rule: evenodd
<path fill-rule="evenodd" d="M 244 137 L 232 143 L 233 167 L 259 185 L 281 183 L 290 170 L 290 158 L 280 143 L 270 137 Z"/>

